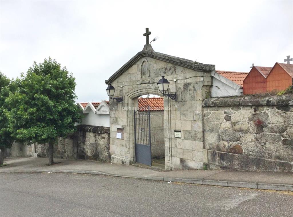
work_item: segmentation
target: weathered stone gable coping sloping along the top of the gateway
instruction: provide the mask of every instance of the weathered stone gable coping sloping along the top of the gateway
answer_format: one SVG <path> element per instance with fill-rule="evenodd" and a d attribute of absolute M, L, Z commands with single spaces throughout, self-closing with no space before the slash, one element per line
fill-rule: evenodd
<path fill-rule="evenodd" d="M 157 60 L 162 60 L 168 63 L 173 63 L 176 65 L 183 66 L 185 68 L 190 68 L 196 71 L 207 71 L 211 72 L 215 69 L 215 65 L 197 63 L 193 60 L 183 59 L 176 56 L 167 55 L 164 53 L 159 53 L 153 51 L 151 45 L 147 45 L 144 49 L 138 52 L 134 57 L 132 57 L 127 63 L 125 63 L 120 69 L 117 70 L 108 80 L 105 80 L 106 84 L 112 83 L 116 78 L 122 75 L 127 69 L 129 69 L 134 63 L 136 63 L 142 57 L 151 57 Z"/>

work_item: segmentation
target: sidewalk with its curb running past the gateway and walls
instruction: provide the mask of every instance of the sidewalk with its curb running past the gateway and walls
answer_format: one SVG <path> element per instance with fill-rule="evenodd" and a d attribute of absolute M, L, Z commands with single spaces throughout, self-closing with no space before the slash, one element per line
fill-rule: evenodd
<path fill-rule="evenodd" d="M 171 170 L 154 171 L 137 166 L 111 164 L 98 161 L 54 159 L 51 166 L 47 158 L 8 157 L 8 166 L 0 172 L 58 172 L 120 176 L 137 179 L 172 181 L 192 184 L 243 187 L 293 191 L 293 174 L 286 172 L 248 172 L 225 170 Z"/>

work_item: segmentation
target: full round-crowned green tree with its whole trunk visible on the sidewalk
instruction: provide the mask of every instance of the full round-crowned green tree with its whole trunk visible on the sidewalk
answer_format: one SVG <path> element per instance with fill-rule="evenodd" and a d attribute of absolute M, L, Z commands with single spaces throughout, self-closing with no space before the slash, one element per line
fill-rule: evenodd
<path fill-rule="evenodd" d="M 75 78 L 56 60 L 34 62 L 20 85 L 6 102 L 9 127 L 13 136 L 26 144 L 48 144 L 49 165 L 53 164 L 53 145 L 58 137 L 65 137 L 76 129 L 80 121 L 75 105 Z"/>

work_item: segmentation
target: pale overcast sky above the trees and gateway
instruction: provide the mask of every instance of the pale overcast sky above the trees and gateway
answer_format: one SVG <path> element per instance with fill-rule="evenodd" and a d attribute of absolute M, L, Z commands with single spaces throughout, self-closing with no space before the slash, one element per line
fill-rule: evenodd
<path fill-rule="evenodd" d="M 79 102 L 108 98 L 105 80 L 145 44 L 216 70 L 248 72 L 293 56 L 293 1 L 3 1 L 0 70 L 49 56 L 76 78 Z"/>

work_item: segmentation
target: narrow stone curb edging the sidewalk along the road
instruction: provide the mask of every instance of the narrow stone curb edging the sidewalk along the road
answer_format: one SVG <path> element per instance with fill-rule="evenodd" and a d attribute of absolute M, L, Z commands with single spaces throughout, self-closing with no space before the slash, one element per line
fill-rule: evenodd
<path fill-rule="evenodd" d="M 239 182 L 239 181 L 220 181 L 220 180 L 206 180 L 206 179 L 184 179 L 184 178 L 170 178 L 159 176 L 123 176 L 116 174 L 109 174 L 100 171 L 91 170 L 23 170 L 23 171 L 0 171 L 0 173 L 77 173 L 77 174 L 91 174 L 91 175 L 103 175 L 114 176 L 132 179 L 146 179 L 154 181 L 171 181 L 189 184 L 201 184 L 201 185 L 213 185 L 224 187 L 236 187 L 236 188 L 250 188 L 250 189 L 263 189 L 263 190 L 276 190 L 276 191 L 293 191 L 293 185 L 290 184 L 274 184 L 274 183 L 256 183 L 256 182 Z"/>

